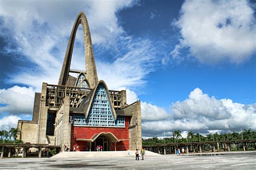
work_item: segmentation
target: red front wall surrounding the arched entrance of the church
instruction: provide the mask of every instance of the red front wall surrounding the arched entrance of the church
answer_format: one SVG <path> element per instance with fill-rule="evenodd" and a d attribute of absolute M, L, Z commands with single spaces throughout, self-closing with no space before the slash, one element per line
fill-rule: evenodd
<path fill-rule="evenodd" d="M 111 132 L 118 139 L 125 139 L 116 143 L 117 151 L 126 151 L 129 150 L 129 121 L 130 117 L 125 117 L 125 128 L 106 128 L 106 127 L 82 127 L 82 126 L 73 126 L 71 128 L 71 149 L 72 146 L 77 144 L 79 145 L 80 151 L 85 151 L 86 148 L 89 148 L 89 143 L 86 141 L 76 141 L 76 139 L 91 139 L 95 134 L 100 132 Z M 114 143 L 110 144 L 110 150 L 114 151 Z"/>

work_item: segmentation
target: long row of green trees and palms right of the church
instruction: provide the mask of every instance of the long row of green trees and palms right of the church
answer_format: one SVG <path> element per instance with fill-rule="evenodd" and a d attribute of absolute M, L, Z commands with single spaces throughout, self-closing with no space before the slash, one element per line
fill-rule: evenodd
<path fill-rule="evenodd" d="M 206 136 L 201 135 L 199 132 L 194 133 L 192 131 L 187 133 L 187 137 L 181 137 L 181 131 L 173 131 L 172 137 L 165 137 L 159 139 L 157 137 L 142 139 L 143 146 L 151 146 L 155 144 L 164 143 L 192 143 L 192 142 L 205 142 L 205 141 L 228 141 L 228 140 L 242 140 L 242 139 L 256 139 L 256 131 L 252 129 L 244 130 L 242 132 L 233 131 L 231 133 L 210 133 Z"/>

